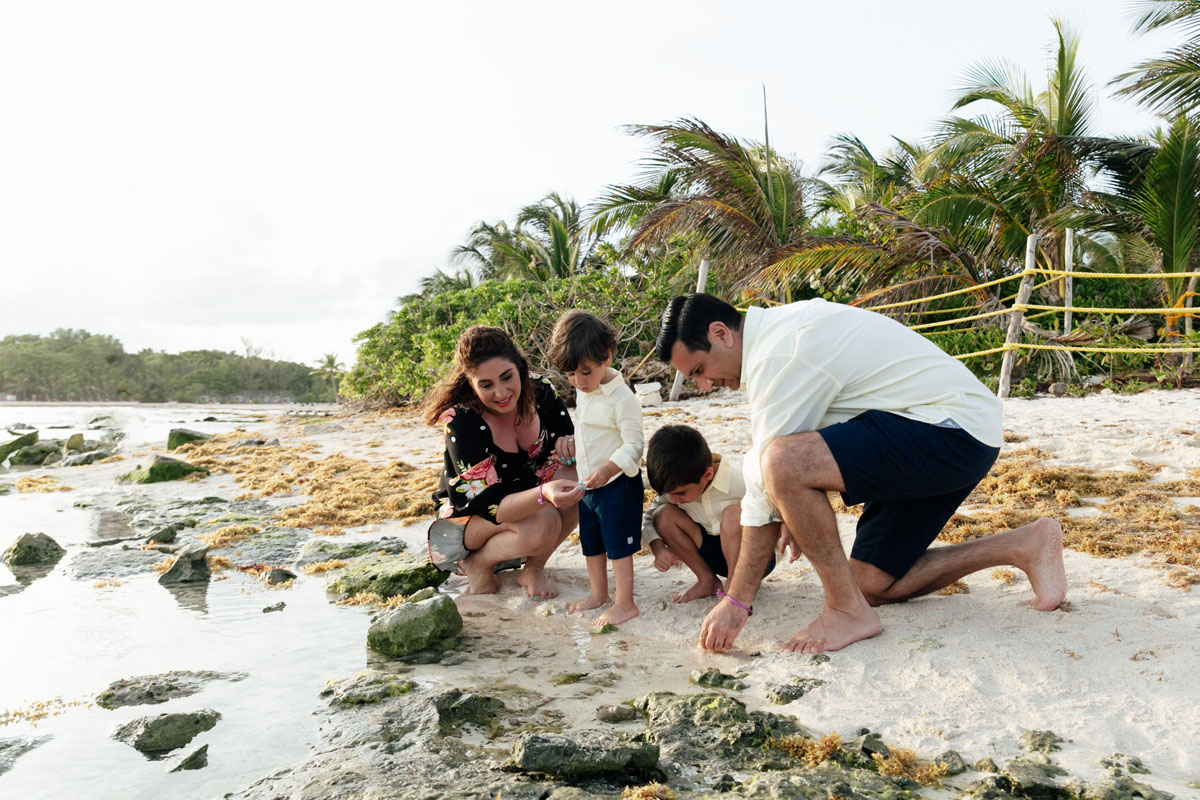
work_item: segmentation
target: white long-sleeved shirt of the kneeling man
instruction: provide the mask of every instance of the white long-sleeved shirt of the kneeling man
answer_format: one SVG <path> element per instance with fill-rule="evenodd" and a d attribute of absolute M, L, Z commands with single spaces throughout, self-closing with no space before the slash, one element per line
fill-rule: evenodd
<path fill-rule="evenodd" d="M 960 361 L 894 319 L 824 300 L 746 309 L 742 387 L 751 431 L 745 527 L 766 525 L 775 513 L 760 459 L 779 437 L 880 410 L 949 423 L 992 447 L 1003 443 L 1001 402 Z"/>

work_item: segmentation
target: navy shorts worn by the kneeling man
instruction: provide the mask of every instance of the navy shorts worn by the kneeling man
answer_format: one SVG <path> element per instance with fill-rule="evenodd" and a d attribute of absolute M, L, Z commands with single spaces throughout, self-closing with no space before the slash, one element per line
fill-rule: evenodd
<path fill-rule="evenodd" d="M 996 462 L 958 427 L 864 411 L 817 431 L 841 470 L 846 505 L 864 504 L 850 557 L 901 578 Z"/>

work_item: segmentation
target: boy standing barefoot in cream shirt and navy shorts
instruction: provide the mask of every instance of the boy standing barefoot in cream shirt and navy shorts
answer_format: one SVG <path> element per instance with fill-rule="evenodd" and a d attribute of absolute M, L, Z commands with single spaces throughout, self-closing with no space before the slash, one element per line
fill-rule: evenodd
<path fill-rule="evenodd" d="M 592 314 L 572 311 L 554 325 L 550 360 L 576 389 L 575 437 L 558 440 L 560 459 L 578 462 L 588 489 L 580 501 L 580 543 L 588 561 L 590 594 L 570 613 L 608 602 L 608 569 L 617 588 L 613 604 L 593 625 L 620 625 L 637 616 L 634 553 L 642 548 L 642 405 L 620 373 L 608 366 L 617 336 Z M 606 558 L 607 557 L 607 558 Z"/>

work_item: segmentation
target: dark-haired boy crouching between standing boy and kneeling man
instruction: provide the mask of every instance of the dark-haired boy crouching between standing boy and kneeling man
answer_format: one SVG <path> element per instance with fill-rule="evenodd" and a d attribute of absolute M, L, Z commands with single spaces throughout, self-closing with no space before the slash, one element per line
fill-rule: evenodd
<path fill-rule="evenodd" d="M 714 456 L 700 431 L 667 425 L 650 437 L 646 475 L 659 495 L 642 517 L 654 567 L 665 572 L 682 561 L 696 573 L 691 588 L 676 593 L 677 603 L 718 594 L 742 548 L 740 464 Z M 763 575 L 774 569 L 772 557 Z"/>

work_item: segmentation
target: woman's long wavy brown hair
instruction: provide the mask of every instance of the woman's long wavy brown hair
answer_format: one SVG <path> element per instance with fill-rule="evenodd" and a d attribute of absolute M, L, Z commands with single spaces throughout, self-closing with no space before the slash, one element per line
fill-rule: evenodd
<path fill-rule="evenodd" d="M 527 423 L 534 416 L 533 381 L 529 379 L 529 362 L 512 343 L 509 335 L 498 327 L 472 325 L 458 337 L 454 366 L 450 373 L 430 390 L 421 404 L 421 416 L 426 425 L 437 425 L 438 417 L 455 405 L 466 405 L 476 414 L 484 413 L 484 404 L 470 385 L 470 375 L 479 365 L 492 359 L 511 361 L 521 378 L 521 397 L 517 398 L 517 422 Z"/>

